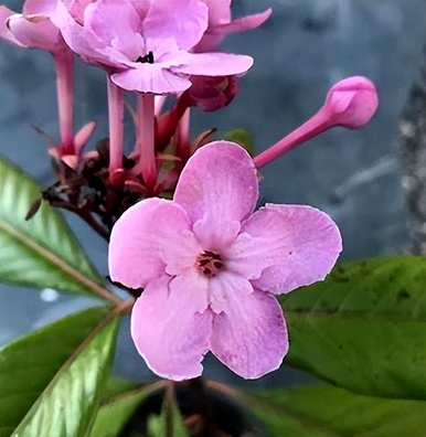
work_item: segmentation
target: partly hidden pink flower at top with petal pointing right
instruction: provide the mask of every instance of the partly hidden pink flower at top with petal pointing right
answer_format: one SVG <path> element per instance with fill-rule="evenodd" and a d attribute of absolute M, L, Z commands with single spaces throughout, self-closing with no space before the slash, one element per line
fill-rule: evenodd
<path fill-rule="evenodd" d="M 253 15 L 232 19 L 232 0 L 203 0 L 209 7 L 209 28 L 195 51 L 214 50 L 227 35 L 245 32 L 262 25 L 271 14 L 271 9 Z"/>

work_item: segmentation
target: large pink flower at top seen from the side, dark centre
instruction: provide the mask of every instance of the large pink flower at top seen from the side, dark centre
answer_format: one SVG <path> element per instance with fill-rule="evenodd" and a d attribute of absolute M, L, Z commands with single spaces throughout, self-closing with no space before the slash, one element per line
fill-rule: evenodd
<path fill-rule="evenodd" d="M 111 73 L 119 87 L 141 93 L 181 93 L 190 75 L 245 73 L 249 56 L 192 53 L 209 25 L 202 0 L 97 0 L 83 21 L 58 0 L 53 21 L 68 46 Z"/>

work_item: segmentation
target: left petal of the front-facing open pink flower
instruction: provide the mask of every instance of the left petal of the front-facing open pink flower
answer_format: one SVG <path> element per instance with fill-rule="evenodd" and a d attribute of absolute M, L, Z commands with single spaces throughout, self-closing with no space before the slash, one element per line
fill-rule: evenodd
<path fill-rule="evenodd" d="M 200 253 L 184 210 L 171 201 L 147 199 L 127 210 L 109 242 L 109 274 L 130 288 L 145 287 L 170 269 L 181 273 Z"/>

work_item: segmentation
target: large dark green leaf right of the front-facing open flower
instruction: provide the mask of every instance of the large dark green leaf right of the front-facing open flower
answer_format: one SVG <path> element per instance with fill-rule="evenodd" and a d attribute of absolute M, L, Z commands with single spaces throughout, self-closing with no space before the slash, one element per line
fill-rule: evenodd
<path fill-rule="evenodd" d="M 348 263 L 280 299 L 287 362 L 354 392 L 426 398 L 426 258 Z"/>

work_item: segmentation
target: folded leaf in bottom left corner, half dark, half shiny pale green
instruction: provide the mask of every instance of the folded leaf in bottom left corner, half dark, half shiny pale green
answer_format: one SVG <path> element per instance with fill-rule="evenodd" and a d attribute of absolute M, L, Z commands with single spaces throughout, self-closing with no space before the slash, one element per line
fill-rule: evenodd
<path fill-rule="evenodd" d="M 0 350 L 0 436 L 86 436 L 114 352 L 117 318 L 70 316 Z"/>

